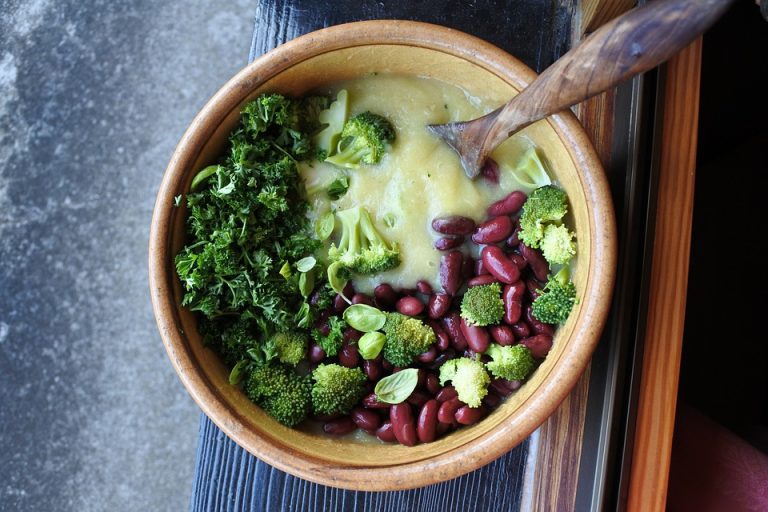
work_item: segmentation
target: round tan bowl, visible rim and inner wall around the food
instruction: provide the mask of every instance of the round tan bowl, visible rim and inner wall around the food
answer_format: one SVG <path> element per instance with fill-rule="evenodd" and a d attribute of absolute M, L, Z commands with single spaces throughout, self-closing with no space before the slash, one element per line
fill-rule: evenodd
<path fill-rule="evenodd" d="M 563 113 L 527 128 L 571 201 L 579 256 L 573 279 L 579 304 L 554 347 L 522 388 L 480 423 L 436 442 L 405 447 L 334 439 L 286 428 L 228 384 L 228 370 L 203 347 L 194 316 L 181 308 L 173 258 L 184 244 L 186 211 L 173 206 L 192 177 L 212 163 L 238 121 L 241 105 L 265 91 L 301 95 L 321 84 L 370 72 L 414 74 L 459 85 L 501 104 L 535 73 L 479 39 L 407 21 L 340 25 L 295 39 L 239 72 L 192 121 L 174 152 L 155 204 L 149 281 L 168 355 L 203 411 L 232 439 L 293 475 L 367 491 L 424 486 L 474 470 L 519 444 L 576 384 L 605 321 L 615 270 L 613 207 L 586 134 Z"/>

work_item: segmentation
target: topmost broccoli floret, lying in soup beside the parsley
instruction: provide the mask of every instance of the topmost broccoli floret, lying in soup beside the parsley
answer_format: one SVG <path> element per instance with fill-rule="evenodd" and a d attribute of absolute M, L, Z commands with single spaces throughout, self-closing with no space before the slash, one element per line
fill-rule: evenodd
<path fill-rule="evenodd" d="M 361 164 L 377 164 L 394 140 L 395 130 L 389 121 L 378 114 L 363 112 L 344 124 L 336 154 L 326 162 L 351 169 Z"/>

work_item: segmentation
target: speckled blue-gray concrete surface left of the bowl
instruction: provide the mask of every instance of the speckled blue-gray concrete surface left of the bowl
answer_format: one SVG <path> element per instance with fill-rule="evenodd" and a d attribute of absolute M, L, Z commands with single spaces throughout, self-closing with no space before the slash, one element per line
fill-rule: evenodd
<path fill-rule="evenodd" d="M 0 510 L 184 510 L 199 410 L 147 289 L 155 192 L 256 1 L 0 0 Z"/>

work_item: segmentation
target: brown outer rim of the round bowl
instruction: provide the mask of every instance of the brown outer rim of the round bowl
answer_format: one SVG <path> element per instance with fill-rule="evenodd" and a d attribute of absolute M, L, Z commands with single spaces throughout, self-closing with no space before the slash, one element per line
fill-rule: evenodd
<path fill-rule="evenodd" d="M 578 347 L 566 350 L 559 361 L 561 371 L 552 370 L 528 398 L 524 416 L 511 415 L 494 429 L 472 442 L 427 459 L 390 466 L 346 466 L 308 457 L 287 444 L 261 436 L 244 427 L 242 418 L 229 408 L 219 392 L 197 372 L 197 362 L 186 348 L 178 319 L 179 305 L 170 285 L 175 278 L 169 265 L 172 235 L 173 195 L 184 179 L 182 172 L 191 164 L 202 144 L 213 134 L 217 123 L 238 108 L 243 99 L 260 83 L 285 69 L 318 55 L 355 46 L 369 45 L 417 46 L 447 53 L 473 62 L 499 76 L 516 75 L 530 83 L 536 73 L 507 52 L 455 29 L 404 20 L 359 21 L 335 25 L 293 39 L 264 54 L 239 71 L 222 86 L 195 116 L 178 143 L 158 190 L 149 238 L 149 286 L 158 329 L 171 363 L 182 383 L 203 412 L 248 452 L 269 464 L 332 487 L 353 490 L 396 490 L 421 487 L 448 480 L 475 470 L 500 457 L 527 438 L 541 425 L 570 393 L 586 368 L 599 340 L 610 307 L 610 290 L 616 267 L 616 236 L 611 195 L 599 158 L 579 121 L 571 112 L 547 118 L 545 122 L 557 132 L 582 176 L 587 197 L 587 218 L 594 237 L 589 272 L 600 269 L 590 283 L 590 289 L 603 290 L 601 300 L 591 300 L 580 309 L 573 336 Z M 514 72 L 510 72 L 514 68 Z M 588 179 L 587 179 L 588 178 Z M 599 198 L 597 202 L 594 199 Z M 605 290 L 608 290 L 606 293 Z"/>

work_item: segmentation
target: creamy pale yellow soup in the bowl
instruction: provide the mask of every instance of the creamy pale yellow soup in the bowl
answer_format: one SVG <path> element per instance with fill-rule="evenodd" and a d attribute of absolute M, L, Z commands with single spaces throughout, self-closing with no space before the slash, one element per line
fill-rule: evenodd
<path fill-rule="evenodd" d="M 522 188 L 508 169 L 531 141 L 516 136 L 492 154 L 500 164 L 498 185 L 483 178 L 472 181 L 456 153 L 425 127 L 479 117 L 498 105 L 489 105 L 454 85 L 413 76 L 372 75 L 339 83 L 338 89 L 349 93 L 350 116 L 369 110 L 386 117 L 395 128 L 396 140 L 377 165 L 353 170 L 328 163 L 302 165 L 313 217 L 360 205 L 371 214 L 383 237 L 398 244 L 400 266 L 371 277 L 357 276 L 358 291 L 371 293 L 382 282 L 412 288 L 419 280 L 440 289 L 438 267 L 443 253 L 434 248 L 440 235 L 432 230 L 432 219 L 463 215 L 482 222 L 489 204 Z M 349 190 L 330 201 L 325 189 L 341 175 L 349 177 Z M 337 224 L 334 240 L 339 231 Z M 465 245 L 462 250 L 470 248 Z"/>

